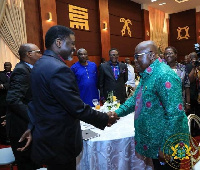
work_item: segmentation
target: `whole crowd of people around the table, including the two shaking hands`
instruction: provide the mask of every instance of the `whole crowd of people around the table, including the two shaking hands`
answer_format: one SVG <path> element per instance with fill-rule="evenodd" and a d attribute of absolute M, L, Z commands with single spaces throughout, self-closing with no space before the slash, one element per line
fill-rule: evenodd
<path fill-rule="evenodd" d="M 116 48 L 108 52 L 109 61 L 102 60 L 97 67 L 89 61 L 87 49 L 80 48 L 78 62 L 70 68 L 65 60 L 71 60 L 76 50 L 75 34 L 60 25 L 47 31 L 45 47 L 42 55 L 35 44 L 22 44 L 13 72 L 6 62 L 0 73 L 0 135 L 10 141 L 18 170 L 44 164 L 48 170 L 75 170 L 83 147 L 80 120 L 104 129 L 132 112 L 136 155 L 152 159 L 155 170 L 173 169 L 166 163 L 165 142 L 173 135 L 189 135 L 188 114 L 200 116 L 196 53 L 189 54 L 183 65 L 177 62 L 174 47 L 167 47 L 161 59 L 155 43 L 143 41 L 135 48 L 134 67 L 130 58 L 119 62 Z M 104 104 L 111 91 L 121 103 L 117 110 L 105 114 L 92 109 L 93 99 Z M 199 135 L 195 126 L 193 132 Z"/>

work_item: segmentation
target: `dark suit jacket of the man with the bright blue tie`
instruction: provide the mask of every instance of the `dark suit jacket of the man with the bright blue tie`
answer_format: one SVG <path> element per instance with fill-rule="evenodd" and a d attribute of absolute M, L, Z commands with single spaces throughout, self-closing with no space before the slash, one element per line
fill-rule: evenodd
<path fill-rule="evenodd" d="M 128 80 L 128 69 L 126 64 L 119 63 L 120 73 L 118 79 L 114 77 L 114 73 L 109 62 L 103 63 L 99 68 L 99 88 L 101 98 L 107 99 L 108 93 L 113 91 L 120 103 L 125 102 L 126 88 L 125 83 Z"/>

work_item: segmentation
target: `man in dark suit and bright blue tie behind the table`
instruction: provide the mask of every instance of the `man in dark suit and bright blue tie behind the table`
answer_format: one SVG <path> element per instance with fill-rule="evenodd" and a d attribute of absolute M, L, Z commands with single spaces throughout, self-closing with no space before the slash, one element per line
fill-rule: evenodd
<path fill-rule="evenodd" d="M 109 51 L 110 61 L 103 63 L 99 68 L 99 88 L 103 103 L 107 99 L 108 93 L 113 94 L 125 102 L 126 88 L 125 83 L 128 80 L 128 69 L 126 64 L 118 62 L 119 52 L 116 48 Z"/>

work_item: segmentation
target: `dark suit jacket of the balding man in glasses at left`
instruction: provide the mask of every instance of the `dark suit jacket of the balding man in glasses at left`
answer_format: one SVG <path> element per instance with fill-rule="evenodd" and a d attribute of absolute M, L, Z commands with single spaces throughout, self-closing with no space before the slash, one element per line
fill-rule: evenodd
<path fill-rule="evenodd" d="M 20 61 L 10 77 L 10 87 L 6 97 L 8 105 L 6 128 L 10 137 L 20 138 L 29 123 L 27 111 L 31 100 L 30 72 L 30 67 Z"/>

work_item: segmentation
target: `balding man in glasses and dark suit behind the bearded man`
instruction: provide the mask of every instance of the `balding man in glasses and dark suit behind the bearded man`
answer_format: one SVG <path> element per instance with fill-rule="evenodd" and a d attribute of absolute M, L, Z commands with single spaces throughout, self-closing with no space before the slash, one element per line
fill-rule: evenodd
<path fill-rule="evenodd" d="M 41 57 L 41 53 L 35 44 L 23 44 L 19 48 L 19 56 L 20 62 L 11 74 L 6 98 L 8 105 L 6 128 L 18 170 L 34 170 L 36 168 L 30 159 L 30 149 L 19 152 L 17 148 L 20 147 L 18 141 L 29 123 L 27 110 L 32 97 L 30 89 L 31 69 L 36 60 Z"/>

